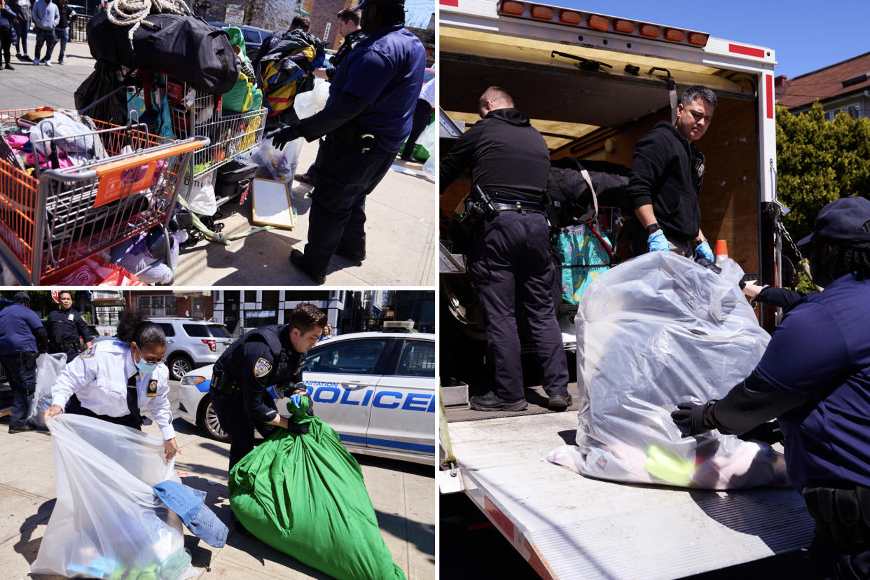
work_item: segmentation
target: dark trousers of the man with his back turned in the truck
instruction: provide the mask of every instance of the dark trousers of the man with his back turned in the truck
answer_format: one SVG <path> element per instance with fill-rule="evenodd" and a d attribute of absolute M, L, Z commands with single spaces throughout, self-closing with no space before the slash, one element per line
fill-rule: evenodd
<path fill-rule="evenodd" d="M 495 364 L 496 395 L 524 397 L 515 307 L 525 309 L 543 387 L 552 397 L 568 389 L 568 367 L 553 306 L 550 229 L 527 210 L 501 211 L 472 233 L 469 274 L 477 286 L 486 343 Z M 518 299 L 519 298 L 519 299 Z"/>

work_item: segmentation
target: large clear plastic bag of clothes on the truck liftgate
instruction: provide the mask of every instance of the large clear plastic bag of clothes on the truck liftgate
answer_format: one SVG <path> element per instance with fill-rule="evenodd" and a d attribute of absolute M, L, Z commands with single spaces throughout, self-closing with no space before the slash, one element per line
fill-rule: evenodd
<path fill-rule="evenodd" d="M 607 271 L 580 299 L 577 446 L 547 459 L 619 482 L 704 489 L 785 485 L 785 461 L 767 443 L 712 430 L 683 437 L 676 403 L 721 398 L 759 362 L 770 337 L 738 283 L 670 252 Z"/>

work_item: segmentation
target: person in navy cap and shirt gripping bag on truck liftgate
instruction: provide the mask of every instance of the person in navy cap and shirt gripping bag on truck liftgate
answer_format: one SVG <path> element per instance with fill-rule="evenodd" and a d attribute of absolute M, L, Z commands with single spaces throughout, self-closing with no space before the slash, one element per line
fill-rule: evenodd
<path fill-rule="evenodd" d="M 719 401 L 679 403 L 688 435 L 745 434 L 777 418 L 788 477 L 816 521 L 821 576 L 870 577 L 870 200 L 845 197 L 816 217 L 813 282 L 764 356 Z"/>

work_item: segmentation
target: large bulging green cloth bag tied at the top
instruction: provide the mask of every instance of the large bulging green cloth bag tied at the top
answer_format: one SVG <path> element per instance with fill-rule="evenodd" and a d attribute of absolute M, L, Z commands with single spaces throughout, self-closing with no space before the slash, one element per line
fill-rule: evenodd
<path fill-rule="evenodd" d="M 308 404 L 298 395 L 287 403 L 307 434 L 278 429 L 232 468 L 233 513 L 264 543 L 338 580 L 404 580 L 359 463 Z"/>

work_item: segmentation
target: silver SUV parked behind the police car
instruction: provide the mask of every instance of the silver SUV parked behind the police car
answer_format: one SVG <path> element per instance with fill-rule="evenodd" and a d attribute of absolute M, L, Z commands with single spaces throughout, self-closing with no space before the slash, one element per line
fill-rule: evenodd
<path fill-rule="evenodd" d="M 230 333 L 221 323 L 184 317 L 151 317 L 166 334 L 166 366 L 169 377 L 180 381 L 191 369 L 218 362 L 231 343 Z"/>

